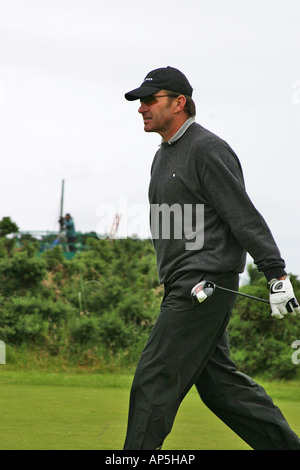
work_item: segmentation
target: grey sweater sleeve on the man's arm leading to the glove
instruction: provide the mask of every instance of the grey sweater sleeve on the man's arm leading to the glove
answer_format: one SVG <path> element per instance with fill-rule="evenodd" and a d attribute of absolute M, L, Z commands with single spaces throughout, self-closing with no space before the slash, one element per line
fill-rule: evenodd
<path fill-rule="evenodd" d="M 241 165 L 233 150 L 220 140 L 200 160 L 200 181 L 208 204 L 228 224 L 268 281 L 285 275 L 285 262 L 267 223 L 245 190 Z"/>

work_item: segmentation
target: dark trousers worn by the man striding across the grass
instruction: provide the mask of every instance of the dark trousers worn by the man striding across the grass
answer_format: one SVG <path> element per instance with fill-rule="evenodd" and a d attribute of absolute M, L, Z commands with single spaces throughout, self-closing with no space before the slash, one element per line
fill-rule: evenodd
<path fill-rule="evenodd" d="M 206 303 L 191 306 L 190 290 L 201 278 L 238 289 L 238 275 L 228 273 L 196 273 L 166 286 L 134 376 L 124 450 L 159 448 L 193 385 L 203 402 L 253 449 L 300 450 L 299 438 L 272 399 L 238 372 L 229 357 L 226 327 L 235 294 L 216 289 Z M 218 436 L 216 449 L 217 442 Z"/>

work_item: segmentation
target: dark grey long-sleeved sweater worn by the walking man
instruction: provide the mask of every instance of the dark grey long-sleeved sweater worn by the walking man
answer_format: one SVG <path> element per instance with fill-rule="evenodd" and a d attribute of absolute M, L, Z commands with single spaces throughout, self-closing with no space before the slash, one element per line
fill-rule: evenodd
<path fill-rule="evenodd" d="M 180 272 L 242 273 L 246 252 L 268 281 L 286 274 L 270 229 L 245 191 L 236 154 L 226 142 L 199 124 L 191 124 L 172 145 L 160 146 L 151 168 L 149 202 L 151 209 L 161 209 L 162 205 L 171 208 L 170 236 L 157 227 L 158 221 L 163 223 L 162 214 L 152 212 L 150 217 L 160 283 L 168 283 Z M 190 216 L 196 240 L 201 208 L 204 237 L 201 240 L 198 236 L 197 248 L 184 229 Z"/>

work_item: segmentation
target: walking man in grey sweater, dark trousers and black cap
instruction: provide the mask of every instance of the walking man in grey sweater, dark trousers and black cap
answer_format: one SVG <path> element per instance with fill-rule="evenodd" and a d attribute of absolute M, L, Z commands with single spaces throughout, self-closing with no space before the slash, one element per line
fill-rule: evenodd
<path fill-rule="evenodd" d="M 125 95 L 140 99 L 144 130 L 162 137 L 149 201 L 165 293 L 133 380 L 124 449 L 161 448 L 196 385 L 204 403 L 253 449 L 300 450 L 271 398 L 230 360 L 226 327 L 236 295 L 217 290 L 209 302 L 191 305 L 191 289 L 202 279 L 237 290 L 248 252 L 271 285 L 272 315 L 300 313 L 272 234 L 245 191 L 240 162 L 226 142 L 195 122 L 192 91 L 184 74 L 166 67 Z M 169 208 L 169 231 L 156 226 L 166 222 L 166 210 L 157 216 L 153 208 Z M 187 208 L 194 231 L 185 230 Z M 197 208 L 204 208 L 204 225 Z M 198 234 L 198 246 L 189 245 L 191 234 Z"/>

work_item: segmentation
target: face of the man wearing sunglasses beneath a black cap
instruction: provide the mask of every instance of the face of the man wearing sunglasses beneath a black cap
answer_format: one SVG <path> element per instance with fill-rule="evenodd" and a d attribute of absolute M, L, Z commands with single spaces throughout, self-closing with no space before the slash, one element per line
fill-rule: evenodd
<path fill-rule="evenodd" d="M 165 134 L 172 127 L 174 121 L 173 103 L 168 96 L 172 92 L 160 90 L 153 95 L 157 97 L 156 102 L 151 102 L 150 97 L 141 99 L 141 106 L 138 112 L 143 116 L 145 132 L 157 132 L 160 135 Z"/>

